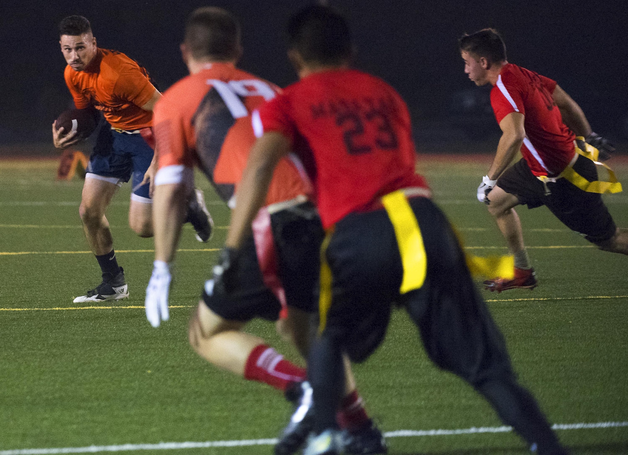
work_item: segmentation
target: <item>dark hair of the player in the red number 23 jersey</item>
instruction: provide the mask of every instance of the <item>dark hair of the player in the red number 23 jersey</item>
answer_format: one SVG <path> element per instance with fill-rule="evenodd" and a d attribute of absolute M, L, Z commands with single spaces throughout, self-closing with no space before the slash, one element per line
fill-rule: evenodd
<path fill-rule="evenodd" d="M 342 14 L 312 4 L 290 18 L 288 42 L 305 62 L 342 63 L 351 58 L 351 32 Z"/>

